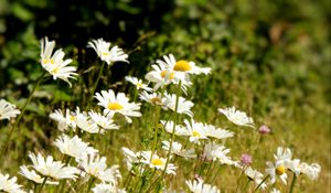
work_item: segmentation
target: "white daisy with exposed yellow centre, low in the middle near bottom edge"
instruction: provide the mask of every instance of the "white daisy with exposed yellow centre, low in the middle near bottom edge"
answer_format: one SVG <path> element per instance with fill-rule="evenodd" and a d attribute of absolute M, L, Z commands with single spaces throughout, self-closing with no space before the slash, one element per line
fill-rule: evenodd
<path fill-rule="evenodd" d="M 148 164 L 150 168 L 154 168 L 157 170 L 164 170 L 166 168 L 166 158 L 161 158 L 158 154 L 152 154 L 151 151 L 142 151 L 141 152 L 141 162 Z M 175 174 L 177 167 L 173 163 L 168 163 L 166 173 Z"/>

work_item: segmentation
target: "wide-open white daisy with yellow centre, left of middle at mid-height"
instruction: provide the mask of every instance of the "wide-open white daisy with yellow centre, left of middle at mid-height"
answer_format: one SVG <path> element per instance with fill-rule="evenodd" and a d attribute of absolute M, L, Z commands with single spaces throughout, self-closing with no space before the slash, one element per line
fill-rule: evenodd
<path fill-rule="evenodd" d="M 124 93 L 115 93 L 109 89 L 108 92 L 102 90 L 95 96 L 98 99 L 98 105 L 105 108 L 104 114 L 113 117 L 116 112 L 125 116 L 128 122 L 132 122 L 130 117 L 141 117 L 140 104 L 129 103 L 129 98 Z"/>

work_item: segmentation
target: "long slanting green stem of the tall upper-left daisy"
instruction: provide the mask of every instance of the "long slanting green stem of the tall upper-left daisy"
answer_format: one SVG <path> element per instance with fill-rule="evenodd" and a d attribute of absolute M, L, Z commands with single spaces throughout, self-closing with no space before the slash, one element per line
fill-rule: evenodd
<path fill-rule="evenodd" d="M 11 130 L 10 130 L 8 137 L 7 137 L 7 141 L 6 141 L 6 143 L 3 146 L 3 149 L 2 149 L 2 156 L 7 154 L 8 146 L 10 143 L 12 133 L 15 130 L 15 128 L 19 126 L 20 120 L 22 119 L 22 117 L 23 117 L 23 115 L 25 112 L 25 109 L 26 109 L 28 105 L 30 104 L 30 101 L 31 101 L 31 99 L 33 97 L 34 92 L 36 90 L 36 88 L 39 87 L 39 85 L 41 84 L 41 82 L 43 81 L 43 78 L 45 77 L 45 75 L 46 75 L 46 71 L 39 77 L 39 79 L 36 81 L 35 85 L 34 85 L 34 87 L 31 90 L 31 94 L 30 94 L 29 98 L 25 100 L 25 104 L 22 107 L 21 114 L 19 115 L 15 124 L 13 125 L 13 127 L 11 128 Z"/>

